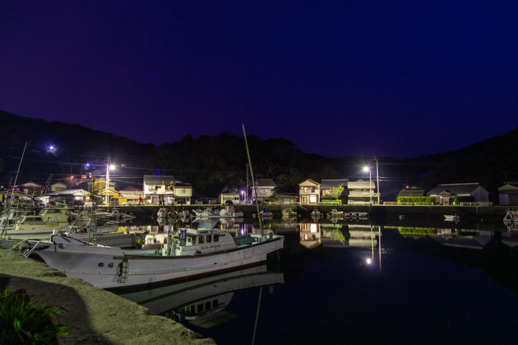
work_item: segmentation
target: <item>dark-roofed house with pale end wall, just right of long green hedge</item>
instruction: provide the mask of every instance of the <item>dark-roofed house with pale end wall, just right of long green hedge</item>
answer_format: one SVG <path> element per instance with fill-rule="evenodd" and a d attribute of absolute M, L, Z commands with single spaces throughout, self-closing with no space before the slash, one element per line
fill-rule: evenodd
<path fill-rule="evenodd" d="M 434 196 L 439 205 L 453 204 L 455 196 L 472 196 L 477 203 L 489 202 L 489 192 L 478 182 L 438 184 L 427 195 Z"/>

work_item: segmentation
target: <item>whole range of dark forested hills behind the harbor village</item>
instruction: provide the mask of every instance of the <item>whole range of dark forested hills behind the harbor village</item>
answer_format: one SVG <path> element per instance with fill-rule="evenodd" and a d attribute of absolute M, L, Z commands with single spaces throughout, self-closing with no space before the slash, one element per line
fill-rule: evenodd
<path fill-rule="evenodd" d="M 141 186 L 145 174 L 174 175 L 189 182 L 199 195 L 215 196 L 221 191 L 239 191 L 247 183 L 247 155 L 244 139 L 223 133 L 218 136 L 186 135 L 174 143 L 156 147 L 125 137 L 60 122 L 16 116 L 0 110 L 0 182 L 7 186 L 16 175 L 25 142 L 27 150 L 20 182 L 44 184 L 95 168 L 104 171 L 107 157 L 118 168 L 110 175 L 119 188 Z M 369 178 L 362 167 L 372 167 L 372 157 L 328 159 L 308 154 L 286 139 L 261 140 L 248 137 L 255 178 L 272 178 L 279 191 L 298 192 L 298 183 L 307 178 Z M 54 150 L 49 150 L 49 146 Z M 347 138 L 344 137 L 344 145 Z M 361 143 L 355 143 L 358 150 Z M 399 160 L 378 157 L 380 186 L 390 200 L 406 184 L 431 189 L 438 183 L 480 182 L 493 194 L 508 181 L 518 181 L 518 128 L 458 151 Z M 90 166 L 85 164 L 89 163 Z M 250 176 L 248 177 L 250 180 Z M 250 181 L 249 181 L 250 183 Z"/>

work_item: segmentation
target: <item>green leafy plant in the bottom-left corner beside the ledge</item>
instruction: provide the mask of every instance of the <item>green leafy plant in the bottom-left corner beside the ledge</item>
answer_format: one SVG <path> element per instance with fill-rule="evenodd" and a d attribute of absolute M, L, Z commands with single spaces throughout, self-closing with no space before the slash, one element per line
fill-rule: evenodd
<path fill-rule="evenodd" d="M 57 336 L 67 334 L 67 327 L 53 325 L 54 315 L 61 311 L 0 286 L 0 344 L 56 343 Z"/>

